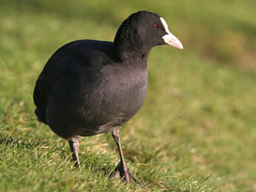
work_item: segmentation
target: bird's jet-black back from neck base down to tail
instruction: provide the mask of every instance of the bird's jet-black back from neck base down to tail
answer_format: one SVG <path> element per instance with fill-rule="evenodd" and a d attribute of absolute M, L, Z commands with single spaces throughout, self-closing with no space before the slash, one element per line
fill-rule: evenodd
<path fill-rule="evenodd" d="M 46 123 L 46 108 L 53 86 L 76 67 L 101 67 L 113 62 L 113 43 L 78 40 L 62 46 L 49 58 L 39 75 L 33 99 L 38 119 Z"/>

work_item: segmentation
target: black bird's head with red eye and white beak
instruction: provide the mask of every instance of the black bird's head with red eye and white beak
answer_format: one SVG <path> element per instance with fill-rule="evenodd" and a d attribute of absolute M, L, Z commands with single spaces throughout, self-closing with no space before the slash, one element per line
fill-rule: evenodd
<path fill-rule="evenodd" d="M 151 49 L 161 44 L 169 44 L 183 49 L 183 44 L 169 31 L 166 20 L 148 11 L 130 15 L 121 26 L 114 39 L 121 49 Z"/>

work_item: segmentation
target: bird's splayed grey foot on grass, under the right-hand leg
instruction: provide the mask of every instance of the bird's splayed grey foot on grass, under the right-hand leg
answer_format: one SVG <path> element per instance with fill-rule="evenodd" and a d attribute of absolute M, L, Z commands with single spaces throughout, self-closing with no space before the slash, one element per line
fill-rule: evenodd
<path fill-rule="evenodd" d="M 138 185 L 142 185 L 142 183 L 135 177 L 130 170 L 127 168 L 125 171 L 122 166 L 117 166 L 114 171 L 109 175 L 109 178 L 120 178 L 122 181 L 131 183 L 131 179 L 135 181 Z"/>

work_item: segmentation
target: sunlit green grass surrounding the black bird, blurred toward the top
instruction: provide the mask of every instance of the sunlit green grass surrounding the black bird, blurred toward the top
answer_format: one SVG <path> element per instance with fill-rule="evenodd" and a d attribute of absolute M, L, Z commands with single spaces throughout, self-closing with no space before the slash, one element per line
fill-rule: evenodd
<path fill-rule="evenodd" d="M 0 191 L 255 191 L 255 2 L 3 0 L 0 3 Z M 154 48 L 148 95 L 121 129 L 144 183 L 109 180 L 110 134 L 67 141 L 38 123 L 32 91 L 49 56 L 75 39 L 112 40 L 131 13 L 163 16 L 184 50 Z"/>

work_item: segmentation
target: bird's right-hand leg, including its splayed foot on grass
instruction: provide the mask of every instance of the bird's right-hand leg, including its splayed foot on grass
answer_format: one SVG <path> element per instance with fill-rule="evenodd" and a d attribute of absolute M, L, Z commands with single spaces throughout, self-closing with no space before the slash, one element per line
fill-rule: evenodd
<path fill-rule="evenodd" d="M 115 171 L 119 172 L 119 177 L 124 178 L 127 183 L 131 183 L 131 178 L 132 178 L 135 182 L 137 182 L 138 184 L 141 184 L 137 179 L 137 177 L 131 174 L 130 170 L 125 164 L 125 159 L 124 159 L 124 155 L 121 148 L 119 129 L 112 131 L 112 136 L 119 148 L 119 156 L 120 156 L 120 163 L 119 163 L 119 166 L 115 168 Z"/>

